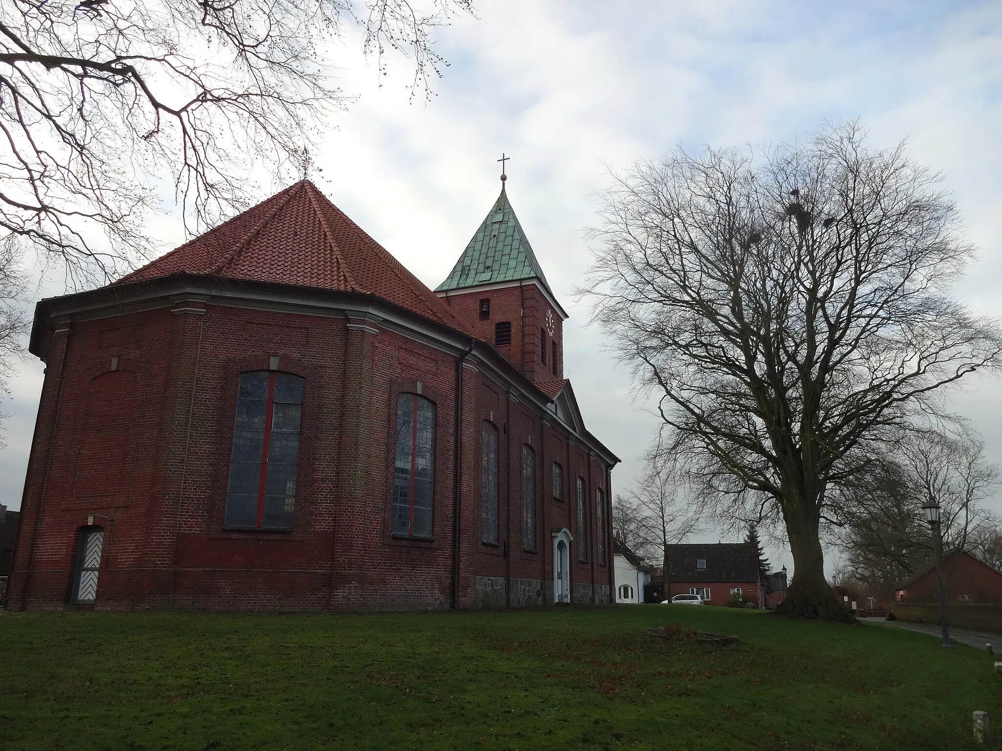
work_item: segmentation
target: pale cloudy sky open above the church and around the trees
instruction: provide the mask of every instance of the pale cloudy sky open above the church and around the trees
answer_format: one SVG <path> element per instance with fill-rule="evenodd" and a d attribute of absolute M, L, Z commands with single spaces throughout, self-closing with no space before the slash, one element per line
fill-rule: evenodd
<path fill-rule="evenodd" d="M 595 194 L 638 157 L 677 144 L 762 144 L 804 137 L 823 120 L 860 117 L 875 145 L 908 138 L 943 173 L 980 259 L 958 293 L 1002 314 L 1002 3 L 564 2 L 480 0 L 437 35 L 451 63 L 425 104 L 407 60 L 375 64 L 347 39 L 337 52 L 358 100 L 330 123 L 311 174 L 324 192 L 426 284 L 452 268 L 500 188 L 554 292 L 570 312 L 565 371 L 588 429 L 623 460 L 618 491 L 657 428 L 631 400 L 628 372 L 588 327 L 571 290 L 589 262 L 583 230 Z M 382 83 L 382 87 L 380 87 Z M 273 186 L 281 187 L 279 185 Z M 266 197 L 269 190 L 263 190 Z M 182 239 L 166 215 L 156 231 Z M 61 291 L 49 280 L 46 294 Z M 19 366 L 0 412 L 0 504 L 20 506 L 42 364 Z M 971 382 L 956 397 L 1002 463 L 1002 388 Z M 993 509 L 1002 513 L 994 499 Z M 712 538 L 711 538 L 712 539 Z M 769 551 L 791 567 L 788 552 Z"/>

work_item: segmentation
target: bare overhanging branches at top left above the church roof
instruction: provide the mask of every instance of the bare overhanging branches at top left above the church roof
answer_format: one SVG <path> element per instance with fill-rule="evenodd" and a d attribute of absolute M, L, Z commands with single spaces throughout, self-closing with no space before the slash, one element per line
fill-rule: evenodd
<path fill-rule="evenodd" d="M 348 97 L 331 53 L 361 26 L 382 71 L 444 64 L 430 33 L 472 0 L 4 0 L 0 238 L 102 281 L 155 247 L 159 192 L 200 228 L 255 195 L 255 166 L 299 168 Z"/>

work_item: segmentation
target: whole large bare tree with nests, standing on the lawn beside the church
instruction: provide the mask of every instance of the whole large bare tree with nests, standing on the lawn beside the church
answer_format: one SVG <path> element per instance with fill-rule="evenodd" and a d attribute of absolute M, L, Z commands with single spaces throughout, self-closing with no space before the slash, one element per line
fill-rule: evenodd
<path fill-rule="evenodd" d="M 585 293 L 700 498 L 785 525 L 781 612 L 848 619 L 825 578 L 829 488 L 1002 350 L 950 295 L 972 248 L 939 178 L 841 124 L 638 162 L 603 219 Z"/>

